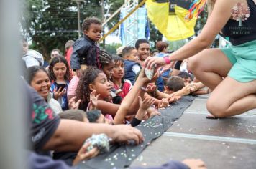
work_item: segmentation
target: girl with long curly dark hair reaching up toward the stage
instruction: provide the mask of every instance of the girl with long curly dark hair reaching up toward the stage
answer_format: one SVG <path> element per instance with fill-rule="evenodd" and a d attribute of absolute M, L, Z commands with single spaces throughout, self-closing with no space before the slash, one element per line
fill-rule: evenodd
<path fill-rule="evenodd" d="M 83 72 L 81 81 L 78 84 L 77 94 L 78 98 L 82 100 L 81 107 L 86 108 L 87 110 L 95 109 L 96 107 L 98 110 L 101 110 L 102 106 L 105 105 L 106 108 L 109 111 L 111 111 L 114 110 L 116 106 L 118 106 L 118 110 L 116 110 L 117 112 L 115 112 L 114 114 L 115 117 L 113 120 L 113 124 L 122 124 L 124 123 L 124 117 L 129 113 L 129 110 L 131 109 L 133 104 L 137 104 L 138 108 L 140 107 L 138 96 L 144 95 L 145 92 L 144 90 L 142 90 L 141 87 L 146 86 L 147 83 L 149 82 L 149 79 L 145 77 L 144 72 L 140 73 L 138 79 L 139 80 L 135 82 L 134 87 L 132 87 L 132 90 L 127 94 L 127 97 L 124 97 L 124 100 L 121 105 L 115 105 L 111 102 L 108 102 L 108 104 L 106 104 L 107 101 L 104 101 L 104 98 L 109 97 L 110 95 L 110 84 L 107 81 L 106 75 L 99 69 L 88 67 L 86 71 Z M 91 95 L 91 101 L 89 99 L 89 95 Z M 96 95 L 99 95 L 97 99 L 95 99 Z M 97 100 L 97 102 L 92 102 L 92 100 Z M 93 104 L 89 104 L 89 102 Z M 145 102 L 142 104 L 144 105 L 144 107 L 142 107 L 139 112 L 139 119 L 142 119 L 141 115 L 145 114 L 145 104 L 151 105 L 151 103 L 152 99 L 145 100 Z M 142 113 L 142 111 L 144 112 Z M 103 121 L 106 122 L 108 120 Z"/>

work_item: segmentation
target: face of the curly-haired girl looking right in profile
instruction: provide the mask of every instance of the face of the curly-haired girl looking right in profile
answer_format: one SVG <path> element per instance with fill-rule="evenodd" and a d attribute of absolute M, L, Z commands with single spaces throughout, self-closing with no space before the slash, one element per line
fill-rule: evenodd
<path fill-rule="evenodd" d="M 106 78 L 106 74 L 100 73 L 98 77 L 94 79 L 93 84 L 90 84 L 91 90 L 96 90 L 97 95 L 100 94 L 102 99 L 109 97 L 111 92 L 111 84 L 109 80 Z"/>

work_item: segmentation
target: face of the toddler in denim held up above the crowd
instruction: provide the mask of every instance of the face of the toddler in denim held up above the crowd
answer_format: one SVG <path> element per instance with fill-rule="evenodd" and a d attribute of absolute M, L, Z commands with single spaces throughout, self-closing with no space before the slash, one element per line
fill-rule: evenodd
<path fill-rule="evenodd" d="M 99 42 L 99 39 L 101 39 L 101 31 L 101 24 L 91 24 L 89 29 L 84 31 L 84 34 L 86 34 L 94 42 Z"/>

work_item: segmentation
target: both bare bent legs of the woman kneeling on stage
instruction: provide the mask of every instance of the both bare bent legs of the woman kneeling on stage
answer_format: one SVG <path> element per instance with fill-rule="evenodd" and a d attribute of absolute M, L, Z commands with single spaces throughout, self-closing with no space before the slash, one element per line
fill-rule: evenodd
<path fill-rule="evenodd" d="M 232 64 L 220 49 L 206 49 L 196 54 L 189 59 L 188 67 L 199 81 L 213 90 L 207 101 L 212 115 L 229 117 L 256 107 L 256 80 L 242 83 L 227 77 Z"/>

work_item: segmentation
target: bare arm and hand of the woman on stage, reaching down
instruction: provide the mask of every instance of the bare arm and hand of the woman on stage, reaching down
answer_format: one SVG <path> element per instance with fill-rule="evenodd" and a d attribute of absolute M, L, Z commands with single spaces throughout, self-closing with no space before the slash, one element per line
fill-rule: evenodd
<path fill-rule="evenodd" d="M 221 32 L 221 29 L 229 20 L 232 6 L 234 6 L 234 4 L 237 2 L 239 2 L 239 0 L 216 0 L 214 9 L 211 12 L 211 15 L 209 15 L 209 19 L 198 37 L 170 54 L 170 61 L 183 60 L 188 57 L 192 57 L 198 52 L 210 47 L 212 42 L 214 42 L 216 35 Z M 151 68 L 154 64 L 164 65 L 165 59 L 150 57 L 145 60 L 144 64 L 149 68 Z"/>

